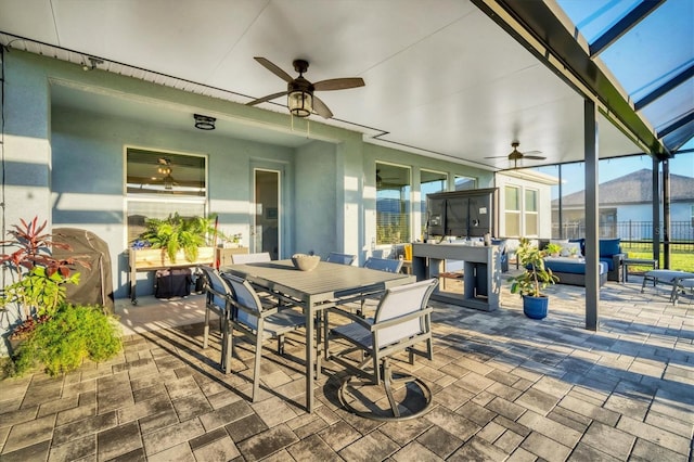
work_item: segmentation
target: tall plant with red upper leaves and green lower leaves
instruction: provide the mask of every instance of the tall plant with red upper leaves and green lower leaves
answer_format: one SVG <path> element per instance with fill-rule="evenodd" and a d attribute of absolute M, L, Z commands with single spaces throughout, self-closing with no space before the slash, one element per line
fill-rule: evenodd
<path fill-rule="evenodd" d="M 36 309 L 37 317 L 51 316 L 52 310 L 46 308 L 55 309 L 64 300 L 65 288 L 62 285 L 79 282 L 79 273 L 70 275 L 74 266 L 79 264 L 89 268 L 89 264 L 76 257 L 59 259 L 52 256 L 51 248 L 72 251 L 72 247 L 53 242 L 50 233 L 43 233 L 48 221 L 39 224 L 38 217 L 28 222 L 23 219 L 20 221 L 21 226 L 14 224 L 14 230 L 8 231 L 13 239 L 0 242 L 3 248 L 16 248 L 11 254 L 0 255 L 0 265 L 10 270 L 14 280 L 4 287 L 0 305 L 18 303 L 24 310 L 25 321 L 30 322 L 33 309 Z"/>

